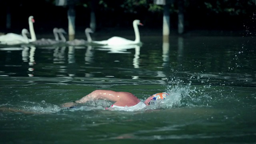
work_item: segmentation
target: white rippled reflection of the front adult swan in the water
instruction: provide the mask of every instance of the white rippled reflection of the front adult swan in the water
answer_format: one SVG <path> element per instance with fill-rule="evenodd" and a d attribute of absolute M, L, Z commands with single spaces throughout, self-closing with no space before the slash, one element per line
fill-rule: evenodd
<path fill-rule="evenodd" d="M 134 58 L 132 64 L 134 68 L 140 68 L 140 46 L 139 45 L 122 45 L 122 46 L 97 46 L 96 50 L 106 50 L 108 53 L 118 53 L 118 54 L 130 54 L 127 52 L 128 49 L 135 50 Z"/>

